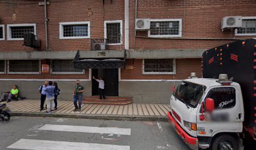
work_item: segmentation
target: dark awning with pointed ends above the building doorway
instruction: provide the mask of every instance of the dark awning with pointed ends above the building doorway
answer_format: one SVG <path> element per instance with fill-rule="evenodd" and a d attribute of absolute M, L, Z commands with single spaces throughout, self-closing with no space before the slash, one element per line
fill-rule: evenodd
<path fill-rule="evenodd" d="M 125 68 L 125 51 L 124 59 L 82 59 L 80 60 L 79 51 L 75 55 L 73 61 L 75 69 L 112 69 L 112 68 Z"/>

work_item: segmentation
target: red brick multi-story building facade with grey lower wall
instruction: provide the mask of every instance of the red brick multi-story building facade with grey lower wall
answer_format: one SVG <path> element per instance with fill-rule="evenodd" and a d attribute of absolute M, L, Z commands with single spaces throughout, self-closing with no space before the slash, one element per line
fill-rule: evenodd
<path fill-rule="evenodd" d="M 0 92 L 17 84 L 35 99 L 43 81 L 52 80 L 60 99 L 72 99 L 80 79 L 90 96 L 97 94 L 95 76 L 105 79 L 108 95 L 168 103 L 173 83 L 191 72 L 201 76 L 203 51 L 256 37 L 255 8 L 255 0 L 51 0 L 46 7 L 38 0 L 0 1 Z M 222 31 L 226 16 L 239 16 L 242 25 Z M 40 48 L 23 46 L 26 32 Z M 73 67 L 78 50 L 83 63 L 92 63 L 82 70 Z M 117 59 L 125 66 L 93 66 Z"/>

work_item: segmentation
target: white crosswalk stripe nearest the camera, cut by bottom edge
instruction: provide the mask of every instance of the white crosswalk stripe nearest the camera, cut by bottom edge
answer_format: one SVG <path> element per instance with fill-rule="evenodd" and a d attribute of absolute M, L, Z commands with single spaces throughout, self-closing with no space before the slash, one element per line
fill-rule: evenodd
<path fill-rule="evenodd" d="M 29 150 L 129 150 L 130 146 L 118 146 L 112 144 L 94 143 L 74 143 L 65 141 L 46 141 L 36 139 L 20 139 L 11 146 L 10 149 L 29 149 Z"/>

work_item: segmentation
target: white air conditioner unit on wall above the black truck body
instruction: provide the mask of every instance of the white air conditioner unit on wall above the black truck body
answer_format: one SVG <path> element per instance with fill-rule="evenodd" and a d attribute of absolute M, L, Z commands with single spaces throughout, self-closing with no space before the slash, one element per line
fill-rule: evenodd
<path fill-rule="evenodd" d="M 242 27 L 242 16 L 227 16 L 221 21 L 221 29 L 233 29 Z"/>

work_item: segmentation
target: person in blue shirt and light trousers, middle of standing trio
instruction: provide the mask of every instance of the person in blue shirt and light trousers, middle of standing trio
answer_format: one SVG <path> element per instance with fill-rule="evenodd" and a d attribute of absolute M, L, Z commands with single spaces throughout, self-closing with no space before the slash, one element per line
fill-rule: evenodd
<path fill-rule="evenodd" d="M 44 91 L 46 92 L 46 104 L 47 111 L 46 113 L 51 113 L 55 108 L 54 104 L 54 95 L 55 95 L 55 86 L 53 86 L 53 82 L 49 82 L 49 86 L 47 86 Z"/>

